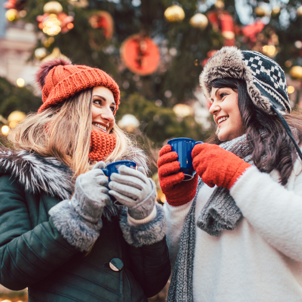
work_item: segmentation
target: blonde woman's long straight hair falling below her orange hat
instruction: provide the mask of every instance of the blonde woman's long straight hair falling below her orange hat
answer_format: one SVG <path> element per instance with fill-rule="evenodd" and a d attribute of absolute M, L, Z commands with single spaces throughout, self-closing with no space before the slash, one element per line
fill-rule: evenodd
<path fill-rule="evenodd" d="M 92 129 L 92 88 L 84 90 L 39 114 L 31 113 L 11 129 L 9 141 L 16 150 L 28 150 L 44 157 L 56 157 L 74 171 L 74 177 L 87 172 Z M 116 147 L 105 162 L 133 160 L 148 172 L 146 155 L 137 143 L 116 124 L 111 130 Z"/>

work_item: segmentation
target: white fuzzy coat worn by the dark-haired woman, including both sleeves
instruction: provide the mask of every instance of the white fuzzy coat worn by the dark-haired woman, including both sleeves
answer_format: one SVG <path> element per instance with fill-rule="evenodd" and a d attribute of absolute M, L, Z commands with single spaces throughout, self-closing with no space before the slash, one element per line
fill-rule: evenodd
<path fill-rule="evenodd" d="M 301 171 L 297 159 L 283 187 L 277 172 L 248 168 L 230 190 L 243 213 L 236 229 L 213 237 L 196 226 L 194 302 L 302 301 Z M 198 192 L 195 221 L 214 189 Z M 172 267 L 191 204 L 164 205 Z"/>

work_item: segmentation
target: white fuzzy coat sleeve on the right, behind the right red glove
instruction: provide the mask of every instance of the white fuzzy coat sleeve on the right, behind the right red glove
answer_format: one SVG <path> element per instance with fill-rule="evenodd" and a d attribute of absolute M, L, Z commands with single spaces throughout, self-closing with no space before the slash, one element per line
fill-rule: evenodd
<path fill-rule="evenodd" d="M 297 175 L 289 191 L 252 166 L 233 185 L 230 194 L 266 242 L 302 261 L 302 174 Z"/>

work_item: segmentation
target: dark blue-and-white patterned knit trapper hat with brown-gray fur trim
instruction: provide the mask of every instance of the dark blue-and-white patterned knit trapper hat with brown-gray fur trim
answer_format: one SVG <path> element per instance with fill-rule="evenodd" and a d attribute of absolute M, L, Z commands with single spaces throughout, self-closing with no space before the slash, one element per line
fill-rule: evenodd
<path fill-rule="evenodd" d="M 211 82 L 215 79 L 235 78 L 246 82 L 247 91 L 255 106 L 268 114 L 291 112 L 287 85 L 282 68 L 273 60 L 256 51 L 241 51 L 223 47 L 215 53 L 199 77 L 206 98 L 210 98 Z"/>

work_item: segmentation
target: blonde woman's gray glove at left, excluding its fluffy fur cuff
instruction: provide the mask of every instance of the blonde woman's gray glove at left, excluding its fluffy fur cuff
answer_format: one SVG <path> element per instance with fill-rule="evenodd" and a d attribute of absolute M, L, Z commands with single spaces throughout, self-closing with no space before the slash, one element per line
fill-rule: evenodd
<path fill-rule="evenodd" d="M 106 204 L 110 204 L 108 196 L 108 179 L 101 170 L 106 167 L 98 162 L 94 168 L 76 179 L 75 193 L 70 202 L 76 212 L 91 223 L 97 223 Z"/>

